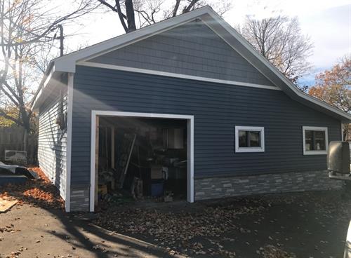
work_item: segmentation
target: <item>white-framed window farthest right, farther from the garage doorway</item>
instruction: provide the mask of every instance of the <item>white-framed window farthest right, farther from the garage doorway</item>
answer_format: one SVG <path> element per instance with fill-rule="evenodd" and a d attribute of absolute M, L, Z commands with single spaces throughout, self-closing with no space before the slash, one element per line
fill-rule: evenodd
<path fill-rule="evenodd" d="M 328 128 L 303 126 L 303 155 L 322 155 L 328 151 Z"/>

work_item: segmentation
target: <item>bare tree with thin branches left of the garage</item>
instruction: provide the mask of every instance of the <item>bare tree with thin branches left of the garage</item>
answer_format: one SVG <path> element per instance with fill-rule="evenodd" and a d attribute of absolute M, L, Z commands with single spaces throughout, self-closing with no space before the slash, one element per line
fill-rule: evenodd
<path fill-rule="evenodd" d="M 58 16 L 46 0 L 0 0 L 0 116 L 26 133 L 32 130 L 34 116 L 30 100 L 44 71 L 38 69 L 39 53 L 48 54 L 46 47 L 53 44 L 58 25 L 94 8 L 89 0 L 75 3 L 73 11 Z"/>

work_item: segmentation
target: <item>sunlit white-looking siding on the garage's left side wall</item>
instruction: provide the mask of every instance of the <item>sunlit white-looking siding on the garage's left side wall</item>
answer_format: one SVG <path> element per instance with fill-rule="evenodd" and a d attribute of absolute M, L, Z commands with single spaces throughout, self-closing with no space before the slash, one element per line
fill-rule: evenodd
<path fill-rule="evenodd" d="M 38 161 L 41 170 L 65 198 L 67 133 L 56 124 L 60 109 L 60 96 L 56 89 L 39 110 Z M 67 92 L 64 93 L 63 111 L 67 112 Z"/>

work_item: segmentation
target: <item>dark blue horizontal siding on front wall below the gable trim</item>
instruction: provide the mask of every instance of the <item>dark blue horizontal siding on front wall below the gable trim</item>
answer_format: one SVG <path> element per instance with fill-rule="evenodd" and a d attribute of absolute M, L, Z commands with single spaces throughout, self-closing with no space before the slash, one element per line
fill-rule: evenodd
<path fill-rule="evenodd" d="M 326 156 L 303 156 L 302 126 L 340 121 L 279 90 L 77 67 L 74 76 L 72 185 L 90 182 L 91 110 L 194 115 L 194 176 L 223 177 L 326 169 Z M 264 126 L 265 152 L 234 153 L 234 126 Z"/>

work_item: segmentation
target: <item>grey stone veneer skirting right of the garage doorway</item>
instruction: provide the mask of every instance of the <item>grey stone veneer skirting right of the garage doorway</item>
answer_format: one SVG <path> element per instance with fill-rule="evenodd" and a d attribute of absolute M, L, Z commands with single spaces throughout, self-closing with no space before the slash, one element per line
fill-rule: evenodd
<path fill-rule="evenodd" d="M 194 179 L 195 201 L 251 194 L 340 189 L 342 186 L 343 182 L 329 179 L 325 170 Z"/>

